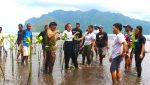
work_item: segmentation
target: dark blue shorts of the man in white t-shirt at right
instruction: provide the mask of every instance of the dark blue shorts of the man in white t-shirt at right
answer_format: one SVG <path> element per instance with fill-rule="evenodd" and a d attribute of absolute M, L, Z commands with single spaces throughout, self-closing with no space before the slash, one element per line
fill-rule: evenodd
<path fill-rule="evenodd" d="M 112 59 L 110 71 L 116 71 L 120 68 L 120 63 L 122 61 L 121 56 L 117 56 L 116 58 Z"/>

